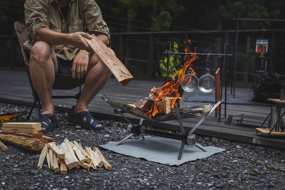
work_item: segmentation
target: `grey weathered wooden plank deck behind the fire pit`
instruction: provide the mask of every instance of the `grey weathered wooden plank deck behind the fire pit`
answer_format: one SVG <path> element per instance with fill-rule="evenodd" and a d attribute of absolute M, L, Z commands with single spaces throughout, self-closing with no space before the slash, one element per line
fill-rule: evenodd
<path fill-rule="evenodd" d="M 28 82 L 27 73 L 23 71 L 7 71 L 0 70 L 0 101 L 31 106 L 33 103 L 32 91 Z M 147 97 L 152 87 L 160 87 L 163 82 L 160 81 L 141 81 L 133 79 L 127 86 L 121 85 L 115 78 L 111 78 L 108 83 L 103 87 L 99 94 L 106 95 L 112 101 L 116 101 L 123 104 L 135 103 L 139 99 Z M 250 89 L 235 88 L 235 98 L 248 98 Z M 54 90 L 53 95 L 74 95 L 78 92 L 78 89 L 72 90 Z M 223 93 L 225 90 L 223 90 Z M 186 102 L 186 98 L 191 96 L 213 96 L 213 93 L 202 93 L 199 89 L 196 89 L 193 93 L 184 93 L 184 98 L 181 101 L 182 107 L 185 106 L 197 106 L 207 105 L 211 103 L 198 103 L 198 102 Z M 227 97 L 233 97 L 230 95 L 230 88 L 227 89 Z M 69 112 L 72 105 L 76 103 L 75 99 L 53 99 L 53 104 L 56 110 Z M 266 118 L 270 112 L 270 107 L 274 104 L 268 105 L 226 105 L 226 117 L 225 117 L 225 104 L 221 104 L 221 119 L 215 118 L 213 112 L 195 131 L 194 134 L 212 136 L 217 138 L 225 138 L 229 140 L 241 141 L 244 143 L 259 144 L 262 146 L 272 146 L 275 148 L 285 147 L 284 136 L 270 135 L 265 138 L 264 134 L 256 133 L 255 128 L 260 127 L 262 120 L 243 119 L 243 124 L 234 123 L 235 120 L 240 118 L 233 118 L 233 122 L 230 125 L 226 125 L 225 121 L 229 115 L 249 115 L 255 117 Z M 125 119 L 118 113 L 114 113 L 114 109 L 108 105 L 102 98 L 97 95 L 89 105 L 89 110 L 92 115 L 103 119 L 113 119 L 125 121 Z M 1 110 L 5 112 L 5 110 Z M 284 108 L 282 107 L 281 113 Z M 125 113 L 124 114 L 131 122 L 138 124 L 140 118 Z M 186 132 L 189 132 L 191 128 L 202 117 L 183 119 L 183 125 Z M 251 122 L 249 122 L 251 121 Z M 239 122 L 240 123 L 240 122 Z M 180 130 L 178 120 L 171 120 L 167 122 L 151 122 L 144 120 L 143 125 L 152 126 L 156 128 Z M 268 126 L 268 122 L 267 122 Z M 264 125 L 266 127 L 266 124 Z"/>

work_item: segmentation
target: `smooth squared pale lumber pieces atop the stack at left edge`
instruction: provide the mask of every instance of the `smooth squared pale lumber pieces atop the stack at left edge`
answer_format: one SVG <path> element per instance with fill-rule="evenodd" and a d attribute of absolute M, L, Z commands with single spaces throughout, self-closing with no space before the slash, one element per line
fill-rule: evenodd
<path fill-rule="evenodd" d="M 4 123 L 2 127 L 2 132 L 4 133 L 26 133 L 35 134 L 39 130 L 42 130 L 41 123 L 35 122 L 9 122 Z"/>

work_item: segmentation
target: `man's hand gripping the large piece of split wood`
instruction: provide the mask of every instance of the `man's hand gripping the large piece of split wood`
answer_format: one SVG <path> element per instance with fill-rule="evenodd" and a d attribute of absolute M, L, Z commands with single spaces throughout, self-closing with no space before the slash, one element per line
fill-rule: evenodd
<path fill-rule="evenodd" d="M 80 50 L 86 50 L 87 52 L 93 52 L 93 50 L 90 48 L 90 46 L 87 44 L 87 42 L 84 40 L 83 37 L 85 38 L 92 38 L 92 36 L 88 33 L 85 32 L 75 32 L 70 34 L 71 36 L 69 37 L 70 43 Z"/>

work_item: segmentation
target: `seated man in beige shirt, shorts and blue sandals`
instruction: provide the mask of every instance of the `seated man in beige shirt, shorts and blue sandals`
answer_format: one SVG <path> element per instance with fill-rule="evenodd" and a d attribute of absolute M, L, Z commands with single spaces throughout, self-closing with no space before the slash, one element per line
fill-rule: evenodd
<path fill-rule="evenodd" d="M 107 83 L 111 71 L 83 38 L 95 34 L 110 45 L 109 29 L 98 5 L 94 0 L 26 0 L 25 21 L 30 40 L 25 44 L 32 45 L 29 71 L 42 102 L 42 115 L 37 121 L 42 123 L 41 132 L 58 126 L 52 105 L 55 73 L 78 79 L 86 75 L 80 98 L 67 119 L 87 129 L 103 128 L 87 106 Z"/>

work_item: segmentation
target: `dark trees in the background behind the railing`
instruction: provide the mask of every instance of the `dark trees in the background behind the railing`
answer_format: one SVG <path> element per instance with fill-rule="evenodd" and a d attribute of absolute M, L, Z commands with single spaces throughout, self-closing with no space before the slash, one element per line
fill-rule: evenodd
<path fill-rule="evenodd" d="M 24 3 L 25 0 L 0 2 L 1 68 L 23 68 L 13 23 L 24 22 Z M 236 37 L 234 30 L 237 22 L 233 19 L 237 18 L 237 13 L 239 18 L 245 19 L 285 19 L 285 15 L 282 14 L 285 0 L 97 0 L 96 3 L 101 7 L 103 18 L 111 31 L 111 47 L 117 56 L 121 55 L 121 61 L 138 75 L 146 75 L 147 72 L 146 63 L 151 56 L 150 32 L 154 32 L 152 75 L 155 76 L 165 75 L 159 65 L 165 57 L 162 52 L 166 50 L 167 42 L 177 43 L 177 51 L 183 52 L 183 42 L 191 39 L 193 50 L 196 47 L 200 53 L 210 51 L 223 53 L 224 44 L 227 43 L 229 53 L 234 54 Z M 247 31 L 239 32 L 237 72 L 255 73 L 255 59 L 258 56 L 255 53 L 256 40 L 264 38 L 269 40 L 268 53 L 265 56 L 271 65 L 267 70 L 284 73 L 284 21 L 239 21 L 239 30 Z M 183 31 L 185 33 L 181 33 Z M 130 34 L 134 32 L 137 34 Z M 148 33 L 139 34 L 139 32 Z M 123 34 L 121 35 L 123 46 L 120 46 L 122 42 L 119 41 L 120 34 Z M 124 52 L 120 52 L 122 47 Z M 199 63 L 206 59 L 203 56 L 200 58 Z M 234 58 L 230 58 L 230 64 L 233 64 L 233 60 Z M 213 59 L 212 62 L 216 60 Z M 201 64 L 197 65 L 203 67 Z M 211 66 L 213 70 L 215 67 L 215 64 Z M 241 74 L 238 79 L 251 80 L 250 77 L 243 75 Z"/>

